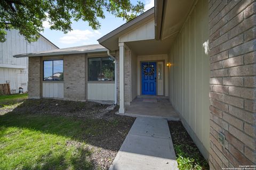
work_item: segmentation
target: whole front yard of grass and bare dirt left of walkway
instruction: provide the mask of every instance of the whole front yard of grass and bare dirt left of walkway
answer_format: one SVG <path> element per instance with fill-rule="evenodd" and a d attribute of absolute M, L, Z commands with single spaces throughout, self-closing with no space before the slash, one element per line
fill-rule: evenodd
<path fill-rule="evenodd" d="M 114 113 L 110 119 L 54 115 L 57 108 L 62 112 L 62 105 L 79 105 L 83 113 L 89 103 L 26 98 L 0 98 L 4 107 L 20 103 L 12 109 L 0 107 L 0 112 L 7 111 L 0 114 L 0 169 L 108 169 L 134 121 Z M 74 108 L 66 113 L 75 114 Z"/>

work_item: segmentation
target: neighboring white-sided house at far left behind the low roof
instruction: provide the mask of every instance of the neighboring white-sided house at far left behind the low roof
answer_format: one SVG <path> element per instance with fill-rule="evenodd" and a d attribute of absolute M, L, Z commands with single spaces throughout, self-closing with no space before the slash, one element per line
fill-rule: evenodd
<path fill-rule="evenodd" d="M 13 58 L 13 55 L 51 49 L 58 47 L 42 35 L 36 42 L 28 43 L 18 30 L 7 30 L 6 41 L 0 46 L 0 84 L 10 83 L 12 93 L 18 93 L 20 87 L 27 91 L 28 58 Z"/>

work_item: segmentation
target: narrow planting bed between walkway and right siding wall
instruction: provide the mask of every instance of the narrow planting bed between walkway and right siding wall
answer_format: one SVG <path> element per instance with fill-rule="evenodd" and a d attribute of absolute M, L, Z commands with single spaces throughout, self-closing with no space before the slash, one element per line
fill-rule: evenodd
<path fill-rule="evenodd" d="M 180 121 L 169 121 L 172 142 L 180 169 L 209 169 L 203 155 Z M 179 162 L 180 161 L 180 162 Z"/>

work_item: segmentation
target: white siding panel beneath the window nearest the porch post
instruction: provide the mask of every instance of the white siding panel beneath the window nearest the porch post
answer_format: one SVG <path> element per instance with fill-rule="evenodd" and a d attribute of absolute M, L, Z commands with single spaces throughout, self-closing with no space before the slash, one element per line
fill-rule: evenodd
<path fill-rule="evenodd" d="M 115 83 L 88 83 L 89 100 L 115 101 Z"/>

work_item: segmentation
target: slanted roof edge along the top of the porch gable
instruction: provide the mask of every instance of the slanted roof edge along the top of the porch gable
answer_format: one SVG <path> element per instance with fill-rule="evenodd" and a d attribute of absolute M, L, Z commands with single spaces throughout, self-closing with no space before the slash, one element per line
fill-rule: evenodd
<path fill-rule="evenodd" d="M 111 43 L 109 44 L 108 42 L 106 42 L 107 40 L 109 40 L 110 38 L 118 40 L 118 37 L 119 37 L 118 35 L 121 35 L 123 33 L 123 31 L 129 31 L 129 30 L 137 27 L 137 25 L 140 24 L 140 21 L 146 20 L 146 19 L 152 18 L 152 17 L 154 17 L 154 7 L 150 8 L 148 11 L 140 14 L 133 20 L 126 22 L 125 24 L 121 25 L 120 27 L 116 28 L 115 30 L 109 32 L 107 35 L 98 39 L 99 44 L 101 44 L 102 46 L 105 46 L 106 48 L 108 48 L 110 50 L 115 50 L 114 48 L 109 47 L 109 45 L 111 45 Z"/>

